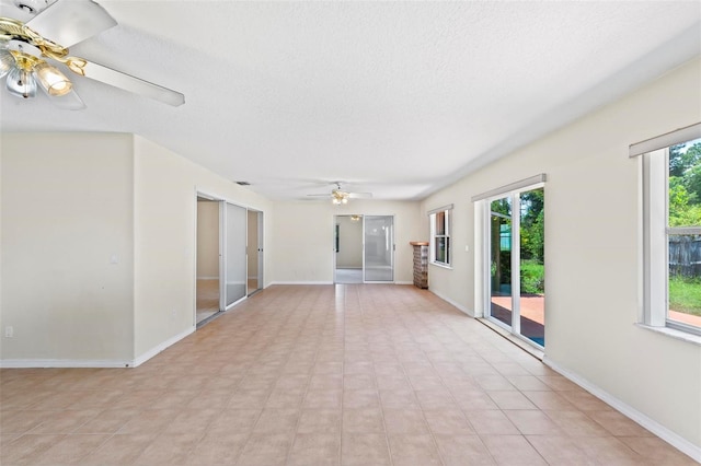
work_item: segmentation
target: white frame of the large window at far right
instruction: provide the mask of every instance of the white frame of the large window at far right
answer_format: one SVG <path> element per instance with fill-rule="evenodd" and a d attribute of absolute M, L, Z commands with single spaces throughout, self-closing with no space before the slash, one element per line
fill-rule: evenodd
<path fill-rule="evenodd" d="M 641 325 L 701 343 L 701 326 L 674 321 L 668 315 L 669 237 L 680 234 L 701 235 L 701 226 L 671 228 L 668 224 L 669 148 L 698 138 L 689 138 L 689 135 L 682 130 L 664 135 L 664 138 L 656 147 L 646 148 L 644 152 L 631 153 L 631 156 L 642 156 L 643 310 Z M 633 145 L 631 145 L 632 149 Z"/>

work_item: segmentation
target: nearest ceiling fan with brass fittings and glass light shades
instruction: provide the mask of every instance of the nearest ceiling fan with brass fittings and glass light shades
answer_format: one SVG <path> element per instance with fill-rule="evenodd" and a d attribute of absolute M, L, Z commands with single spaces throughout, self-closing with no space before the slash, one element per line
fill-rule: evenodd
<path fill-rule="evenodd" d="M 169 105 L 185 103 L 180 92 L 68 54 L 68 47 L 117 24 L 94 1 L 14 0 L 13 3 L 16 19 L 0 15 L 0 78 L 7 75 L 10 94 L 31 98 L 39 88 L 59 107 L 84 108 L 72 82 L 51 65 L 56 62 L 78 75 Z"/>

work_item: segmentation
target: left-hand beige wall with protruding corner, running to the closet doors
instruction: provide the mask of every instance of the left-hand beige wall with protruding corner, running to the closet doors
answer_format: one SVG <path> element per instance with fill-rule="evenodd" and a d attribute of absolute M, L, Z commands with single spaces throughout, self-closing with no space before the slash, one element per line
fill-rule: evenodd
<path fill-rule="evenodd" d="M 1 149 L 7 366 L 143 362 L 194 329 L 196 193 L 269 211 L 138 136 L 3 133 Z"/>

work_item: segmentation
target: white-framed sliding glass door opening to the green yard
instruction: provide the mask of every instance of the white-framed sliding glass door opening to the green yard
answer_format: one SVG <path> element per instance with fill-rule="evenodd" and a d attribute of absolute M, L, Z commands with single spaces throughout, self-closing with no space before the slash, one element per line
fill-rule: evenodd
<path fill-rule="evenodd" d="M 531 187 L 487 202 L 487 317 L 544 347 L 544 190 Z"/>

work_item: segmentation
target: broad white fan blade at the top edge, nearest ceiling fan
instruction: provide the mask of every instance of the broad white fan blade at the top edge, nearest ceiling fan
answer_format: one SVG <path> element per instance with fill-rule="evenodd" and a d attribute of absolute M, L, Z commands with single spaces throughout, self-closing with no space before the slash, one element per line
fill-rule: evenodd
<path fill-rule="evenodd" d="M 58 0 L 26 22 L 32 31 L 66 48 L 116 25 L 92 0 Z"/>

